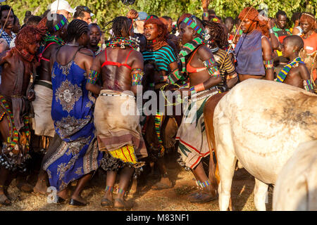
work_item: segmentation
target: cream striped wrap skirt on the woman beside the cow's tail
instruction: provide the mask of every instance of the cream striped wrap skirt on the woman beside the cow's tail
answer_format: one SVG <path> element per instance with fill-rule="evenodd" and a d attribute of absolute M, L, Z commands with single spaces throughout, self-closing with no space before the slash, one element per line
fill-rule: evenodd
<path fill-rule="evenodd" d="M 182 123 L 176 135 L 176 140 L 180 141 L 178 153 L 181 159 L 178 162 L 184 167 L 194 169 L 201 158 L 210 155 L 204 124 L 204 105 L 211 96 L 218 93 L 219 91 L 214 87 L 201 91 L 192 96 L 186 105 Z"/>

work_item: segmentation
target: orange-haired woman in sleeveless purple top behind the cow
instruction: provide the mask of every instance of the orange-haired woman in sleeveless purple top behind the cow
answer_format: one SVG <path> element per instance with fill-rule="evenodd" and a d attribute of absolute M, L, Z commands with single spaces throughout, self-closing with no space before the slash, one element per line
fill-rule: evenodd
<path fill-rule="evenodd" d="M 273 80 L 273 51 L 267 21 L 261 20 L 259 12 L 250 7 L 242 10 L 239 19 L 243 34 L 235 47 L 235 56 L 240 81 L 249 78 Z"/>

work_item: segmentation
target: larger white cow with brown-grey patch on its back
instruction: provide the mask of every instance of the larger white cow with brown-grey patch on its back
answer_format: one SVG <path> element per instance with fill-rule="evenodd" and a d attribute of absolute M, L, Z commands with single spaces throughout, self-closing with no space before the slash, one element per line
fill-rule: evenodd
<path fill-rule="evenodd" d="M 317 139 L 317 95 L 288 84 L 247 79 L 215 108 L 213 127 L 220 175 L 220 210 L 227 210 L 239 160 L 255 178 L 254 203 L 266 210 L 268 184 L 299 143 Z"/>

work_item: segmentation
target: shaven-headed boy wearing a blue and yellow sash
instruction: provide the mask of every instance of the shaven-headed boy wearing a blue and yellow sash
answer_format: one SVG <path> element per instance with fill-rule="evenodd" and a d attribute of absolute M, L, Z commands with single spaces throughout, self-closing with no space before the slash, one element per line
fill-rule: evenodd
<path fill-rule="evenodd" d="M 290 59 L 290 63 L 279 72 L 277 82 L 290 84 L 313 93 L 314 85 L 299 51 L 304 48 L 304 41 L 301 37 L 287 36 L 282 43 L 282 55 Z"/>

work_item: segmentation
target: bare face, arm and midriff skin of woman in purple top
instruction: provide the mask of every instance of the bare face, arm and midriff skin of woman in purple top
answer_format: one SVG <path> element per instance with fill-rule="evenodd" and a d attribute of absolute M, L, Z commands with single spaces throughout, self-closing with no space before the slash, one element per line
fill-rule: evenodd
<path fill-rule="evenodd" d="M 256 28 L 256 22 L 253 22 L 252 20 L 249 20 L 245 18 L 241 23 L 241 29 L 244 33 L 251 33 Z M 263 37 L 261 39 L 262 44 L 262 56 L 263 60 L 272 60 L 272 46 L 271 42 L 268 40 L 267 37 Z M 255 79 L 268 79 L 273 80 L 274 79 L 274 73 L 273 70 L 266 70 L 265 76 L 256 76 L 256 75 L 239 75 L 240 81 L 244 81 L 244 79 L 249 78 L 255 78 Z"/>

